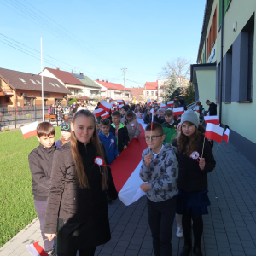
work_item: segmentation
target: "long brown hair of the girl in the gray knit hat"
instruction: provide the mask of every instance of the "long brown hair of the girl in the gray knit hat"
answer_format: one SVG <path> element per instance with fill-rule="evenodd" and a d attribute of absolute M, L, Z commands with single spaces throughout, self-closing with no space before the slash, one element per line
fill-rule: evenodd
<path fill-rule="evenodd" d="M 190 122 L 188 122 L 189 125 L 194 125 Z M 195 126 L 195 125 L 194 125 Z M 195 129 L 195 132 L 190 136 L 187 137 L 183 134 L 183 129 L 181 127 L 181 131 L 177 135 L 177 146 L 178 146 L 178 152 L 186 154 L 189 156 L 192 154 L 193 151 L 196 150 L 198 139 L 201 137 L 201 132 L 198 131 L 197 127 Z"/>

